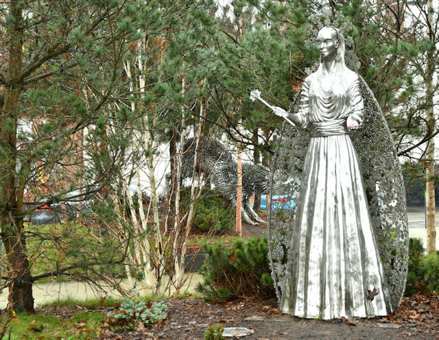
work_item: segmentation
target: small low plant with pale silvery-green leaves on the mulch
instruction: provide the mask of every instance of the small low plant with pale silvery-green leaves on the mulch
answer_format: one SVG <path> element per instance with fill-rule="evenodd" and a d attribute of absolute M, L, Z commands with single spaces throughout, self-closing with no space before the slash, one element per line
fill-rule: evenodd
<path fill-rule="evenodd" d="M 135 330 L 140 322 L 143 324 L 156 324 L 166 319 L 169 304 L 159 302 L 134 302 L 124 300 L 108 312 L 108 324 L 113 331 Z"/>

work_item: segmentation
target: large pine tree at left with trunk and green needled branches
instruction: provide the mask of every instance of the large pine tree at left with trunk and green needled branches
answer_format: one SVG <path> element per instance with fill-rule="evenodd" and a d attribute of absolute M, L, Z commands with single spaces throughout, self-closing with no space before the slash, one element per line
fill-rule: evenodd
<path fill-rule="evenodd" d="M 114 182 L 132 151 L 123 127 L 141 114 L 117 109 L 134 95 L 123 62 L 139 40 L 165 36 L 191 10 L 189 2 L 137 0 L 0 5 L 7 42 L 0 52 L 0 225 L 14 311 L 33 311 L 32 283 L 45 277 L 33 277 L 29 269 L 25 191 L 38 207 L 71 199 L 74 190 L 73 199 L 86 199 Z M 160 95 L 163 86 L 154 90 Z M 33 131 L 23 131 L 23 122 Z M 34 191 L 38 178 L 49 179 L 48 192 Z"/>

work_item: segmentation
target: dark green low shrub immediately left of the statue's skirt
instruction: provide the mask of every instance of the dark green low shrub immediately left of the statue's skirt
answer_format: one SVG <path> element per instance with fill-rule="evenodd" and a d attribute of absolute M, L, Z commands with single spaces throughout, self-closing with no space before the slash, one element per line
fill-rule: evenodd
<path fill-rule="evenodd" d="M 209 302 L 241 296 L 274 296 L 270 275 L 268 241 L 265 238 L 238 240 L 231 247 L 203 245 L 207 253 L 202 267 L 204 280 L 197 290 Z"/>

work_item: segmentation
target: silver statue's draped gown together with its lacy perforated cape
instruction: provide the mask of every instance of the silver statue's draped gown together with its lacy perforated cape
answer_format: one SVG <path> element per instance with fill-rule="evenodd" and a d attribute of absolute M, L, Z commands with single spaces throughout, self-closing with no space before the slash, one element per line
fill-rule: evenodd
<path fill-rule="evenodd" d="M 349 71 L 341 93 L 324 90 L 315 77 L 305 80 L 297 112 L 309 131 L 289 128 L 274 169 L 273 195 L 296 203 L 270 211 L 281 311 L 323 319 L 386 315 L 401 301 L 408 245 L 392 138 L 356 73 Z M 349 114 L 364 115 L 357 132 L 346 129 Z"/>

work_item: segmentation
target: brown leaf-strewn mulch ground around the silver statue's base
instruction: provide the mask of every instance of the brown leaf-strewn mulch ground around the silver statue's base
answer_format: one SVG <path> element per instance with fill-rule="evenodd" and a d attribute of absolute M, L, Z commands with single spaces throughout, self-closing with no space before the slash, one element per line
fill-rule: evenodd
<path fill-rule="evenodd" d="M 320 321 L 279 313 L 275 300 L 244 299 L 206 304 L 200 299 L 167 299 L 169 315 L 154 326 L 135 331 L 111 332 L 103 326 L 99 339 L 204 339 L 211 324 L 246 327 L 253 335 L 239 339 L 439 339 L 439 298 L 436 293 L 404 298 L 387 317 Z M 46 308 L 46 313 L 69 317 L 78 309 Z M 105 311 L 105 310 L 102 310 Z"/>

